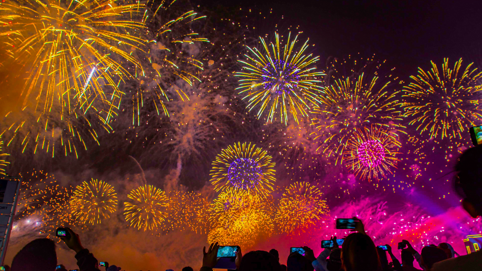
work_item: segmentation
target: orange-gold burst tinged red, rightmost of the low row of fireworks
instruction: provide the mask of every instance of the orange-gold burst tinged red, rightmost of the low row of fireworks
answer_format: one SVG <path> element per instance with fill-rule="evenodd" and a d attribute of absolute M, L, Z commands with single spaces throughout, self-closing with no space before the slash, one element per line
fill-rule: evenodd
<path fill-rule="evenodd" d="M 308 182 L 295 182 L 280 200 L 276 221 L 282 232 L 293 234 L 313 227 L 329 212 L 321 191 Z"/>

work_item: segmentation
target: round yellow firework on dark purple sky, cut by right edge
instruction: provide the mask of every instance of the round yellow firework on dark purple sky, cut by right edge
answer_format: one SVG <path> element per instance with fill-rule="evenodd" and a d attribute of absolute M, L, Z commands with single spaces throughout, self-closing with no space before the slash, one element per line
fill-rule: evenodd
<path fill-rule="evenodd" d="M 449 59 L 444 58 L 442 69 L 430 61 L 428 71 L 418 68 L 416 76 L 404 87 L 405 101 L 401 103 L 410 125 L 416 125 L 420 134 L 430 137 L 462 138 L 474 121 L 482 118 L 479 106 L 481 98 L 482 72 L 471 68 L 470 63 L 462 67 L 462 58 L 449 67 Z"/>

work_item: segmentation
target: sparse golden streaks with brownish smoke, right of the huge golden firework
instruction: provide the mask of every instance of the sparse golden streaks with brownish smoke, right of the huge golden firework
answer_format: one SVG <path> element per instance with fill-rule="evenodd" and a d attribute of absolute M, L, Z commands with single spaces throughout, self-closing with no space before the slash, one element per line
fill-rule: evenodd
<path fill-rule="evenodd" d="M 166 102 L 175 98 L 189 100 L 189 90 L 195 81 L 201 82 L 203 63 L 195 56 L 201 51 L 201 43 L 209 41 L 199 37 L 193 30 L 194 22 L 205 18 L 195 11 L 179 12 L 173 7 L 175 1 L 147 1 L 143 21 L 149 26 L 147 54 L 140 52 L 146 71 L 139 72 L 140 84 L 132 93 L 133 125 L 140 125 L 142 108 L 157 115 L 169 116 Z M 154 29 L 154 31 L 152 31 Z"/>

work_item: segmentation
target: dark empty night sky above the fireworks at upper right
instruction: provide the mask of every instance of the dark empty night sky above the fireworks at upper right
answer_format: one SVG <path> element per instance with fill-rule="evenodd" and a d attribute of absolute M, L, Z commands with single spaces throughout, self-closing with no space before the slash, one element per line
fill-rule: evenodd
<path fill-rule="evenodd" d="M 375 53 L 404 75 L 415 73 L 418 66 L 428 68 L 430 60 L 442 63 L 443 57 L 454 61 L 463 57 L 466 64 L 481 62 L 482 1 L 478 0 L 195 2 L 206 8 L 224 5 L 265 13 L 272 8 L 273 18 L 284 18 L 273 22 L 299 25 L 316 43 L 321 59 Z"/>

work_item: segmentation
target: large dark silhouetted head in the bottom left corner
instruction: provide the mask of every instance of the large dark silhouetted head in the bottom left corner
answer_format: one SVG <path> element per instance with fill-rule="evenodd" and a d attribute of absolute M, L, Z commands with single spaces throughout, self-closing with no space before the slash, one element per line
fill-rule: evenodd
<path fill-rule="evenodd" d="M 56 267 L 55 242 L 39 238 L 26 244 L 13 257 L 11 271 L 55 271 Z"/>

